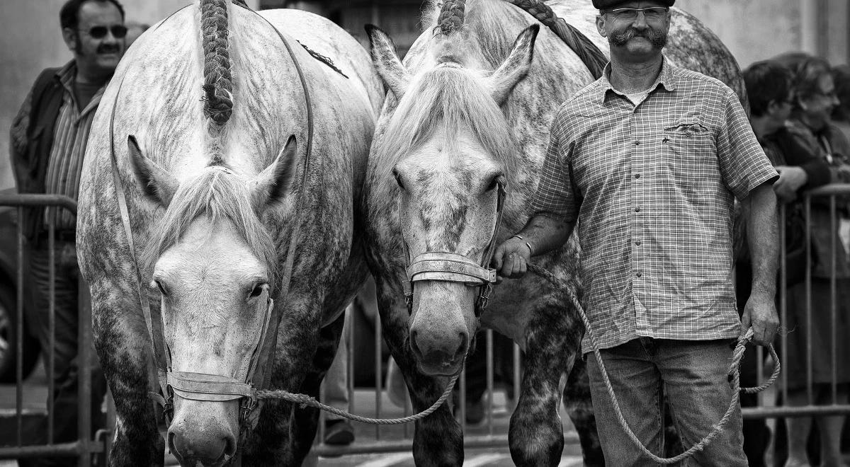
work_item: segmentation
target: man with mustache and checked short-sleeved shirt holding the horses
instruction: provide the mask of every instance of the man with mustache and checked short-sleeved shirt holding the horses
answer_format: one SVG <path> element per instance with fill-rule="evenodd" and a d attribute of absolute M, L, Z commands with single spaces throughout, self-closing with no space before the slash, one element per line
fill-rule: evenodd
<path fill-rule="evenodd" d="M 626 424 L 664 453 L 665 397 L 684 447 L 723 418 L 736 338 L 774 340 L 777 172 L 738 96 L 662 55 L 675 0 L 592 0 L 607 37 L 604 76 L 558 110 L 526 226 L 496 250 L 501 275 L 560 248 L 576 223 L 582 306 Z M 742 318 L 732 277 L 732 209 L 747 216 L 752 292 Z M 606 465 L 655 465 L 626 436 L 587 339 Z M 692 461 L 745 466 L 740 406 Z"/>

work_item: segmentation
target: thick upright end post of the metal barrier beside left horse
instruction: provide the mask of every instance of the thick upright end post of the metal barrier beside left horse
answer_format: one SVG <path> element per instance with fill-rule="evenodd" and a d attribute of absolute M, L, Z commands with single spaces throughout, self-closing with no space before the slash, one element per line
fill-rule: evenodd
<path fill-rule="evenodd" d="M 79 279 L 78 295 L 78 317 L 79 317 L 79 340 L 77 341 L 77 356 L 79 358 L 80 379 L 77 381 L 79 387 L 78 404 L 80 407 L 77 419 L 77 436 L 79 436 L 82 455 L 77 463 L 79 467 L 88 467 L 92 463 L 89 453 L 93 443 L 92 436 L 92 306 L 91 296 L 88 292 L 88 284 L 82 278 Z"/>

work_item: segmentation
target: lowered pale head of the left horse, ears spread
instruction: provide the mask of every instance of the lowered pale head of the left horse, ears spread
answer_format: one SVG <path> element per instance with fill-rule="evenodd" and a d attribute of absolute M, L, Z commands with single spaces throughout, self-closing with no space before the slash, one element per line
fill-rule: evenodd
<path fill-rule="evenodd" d="M 173 421 L 168 447 L 184 465 L 222 465 L 241 430 L 239 394 L 202 397 L 177 383 L 186 375 L 216 391 L 251 382 L 280 284 L 275 245 L 263 215 L 286 198 L 296 146 L 290 138 L 252 180 L 225 166 L 207 166 L 183 183 L 127 141 L 139 188 L 165 213 L 144 252 L 150 288 L 160 295 L 171 359 Z M 230 386 L 227 386 L 230 387 Z"/>

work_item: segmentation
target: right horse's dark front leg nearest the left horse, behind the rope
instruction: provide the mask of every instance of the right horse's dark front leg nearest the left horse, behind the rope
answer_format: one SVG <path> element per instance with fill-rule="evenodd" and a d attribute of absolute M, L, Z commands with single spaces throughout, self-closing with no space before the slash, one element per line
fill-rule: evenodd
<path fill-rule="evenodd" d="M 400 294 L 376 278 L 378 308 L 381 311 L 383 338 L 395 363 L 405 377 L 413 410 L 418 413 L 431 407 L 445 391 L 446 378 L 434 378 L 416 369 L 416 360 L 408 345 L 407 309 L 395 304 Z M 413 433 L 413 459 L 420 467 L 459 466 L 463 464 L 463 432 L 444 403 L 424 419 L 416 420 Z"/>

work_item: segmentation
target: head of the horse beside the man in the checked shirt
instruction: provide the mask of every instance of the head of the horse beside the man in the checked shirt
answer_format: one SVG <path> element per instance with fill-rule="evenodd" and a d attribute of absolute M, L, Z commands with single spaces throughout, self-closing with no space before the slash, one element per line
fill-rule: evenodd
<path fill-rule="evenodd" d="M 492 70 L 461 27 L 440 27 L 429 59 L 408 70 L 388 35 L 367 26 L 372 61 L 396 103 L 379 124 L 372 179 L 399 200 L 409 345 L 425 374 L 458 372 L 479 327 L 490 247 L 518 157 L 500 106 L 528 72 L 539 31 L 522 31 Z"/>

